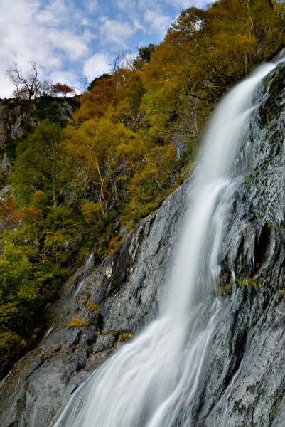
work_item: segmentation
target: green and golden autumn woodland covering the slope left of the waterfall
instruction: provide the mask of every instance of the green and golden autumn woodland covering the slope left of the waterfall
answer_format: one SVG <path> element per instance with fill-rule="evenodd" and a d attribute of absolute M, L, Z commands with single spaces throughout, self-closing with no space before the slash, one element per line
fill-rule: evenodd
<path fill-rule="evenodd" d="M 41 122 L 9 141 L 1 176 L 0 362 L 41 336 L 45 305 L 90 251 L 100 263 L 183 181 L 215 103 L 285 46 L 284 23 L 283 1 L 185 9 L 131 68 L 90 83 L 72 124 L 49 97 L 31 101 Z"/>

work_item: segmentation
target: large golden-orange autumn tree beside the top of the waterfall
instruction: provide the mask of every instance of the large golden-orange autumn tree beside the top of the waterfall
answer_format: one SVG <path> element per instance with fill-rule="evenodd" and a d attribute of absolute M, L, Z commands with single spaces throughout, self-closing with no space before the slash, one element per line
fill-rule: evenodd
<path fill-rule="evenodd" d="M 220 0 L 206 9 L 185 9 L 142 73 L 143 104 L 154 135 L 197 139 L 222 94 L 284 46 L 282 11 L 284 1 L 272 8 L 264 0 Z"/>

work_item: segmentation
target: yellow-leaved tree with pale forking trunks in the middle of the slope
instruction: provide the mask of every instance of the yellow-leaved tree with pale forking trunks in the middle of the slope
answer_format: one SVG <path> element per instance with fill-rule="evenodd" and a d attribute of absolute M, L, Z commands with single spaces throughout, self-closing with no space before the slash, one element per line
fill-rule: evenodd
<path fill-rule="evenodd" d="M 107 218 L 110 206 L 127 196 L 127 177 L 132 173 L 141 139 L 122 123 L 107 118 L 85 121 L 79 129 L 65 130 L 65 155 L 77 192 L 90 194 L 97 211 Z"/>

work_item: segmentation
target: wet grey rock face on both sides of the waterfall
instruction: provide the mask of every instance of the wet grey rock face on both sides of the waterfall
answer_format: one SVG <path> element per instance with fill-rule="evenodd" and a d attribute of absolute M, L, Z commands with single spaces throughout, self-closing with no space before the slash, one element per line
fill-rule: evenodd
<path fill-rule="evenodd" d="M 285 64 L 255 96 L 244 179 L 221 248 L 221 308 L 192 408 L 197 427 L 285 426 Z M 66 283 L 50 309 L 53 329 L 1 384 L 1 426 L 48 427 L 90 371 L 156 315 L 188 185 L 98 270 Z"/>

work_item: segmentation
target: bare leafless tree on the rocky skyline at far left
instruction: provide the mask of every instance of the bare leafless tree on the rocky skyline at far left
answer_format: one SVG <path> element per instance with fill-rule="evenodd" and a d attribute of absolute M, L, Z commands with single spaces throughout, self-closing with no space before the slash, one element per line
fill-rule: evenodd
<path fill-rule="evenodd" d="M 31 71 L 27 75 L 23 75 L 17 63 L 6 70 L 6 76 L 11 80 L 15 89 L 13 91 L 14 97 L 26 100 L 32 100 L 39 97 L 48 90 L 48 83 L 41 83 L 38 80 L 39 66 L 35 62 L 30 62 Z"/>

